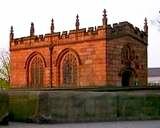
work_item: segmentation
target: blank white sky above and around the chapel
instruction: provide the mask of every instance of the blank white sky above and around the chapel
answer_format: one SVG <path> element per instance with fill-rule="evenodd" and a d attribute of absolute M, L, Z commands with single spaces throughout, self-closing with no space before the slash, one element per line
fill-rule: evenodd
<path fill-rule="evenodd" d="M 147 17 L 148 66 L 160 67 L 160 0 L 1 0 L 0 50 L 9 50 L 11 25 L 15 38 L 28 36 L 31 22 L 36 35 L 49 33 L 52 18 L 55 31 L 75 29 L 77 14 L 81 28 L 98 26 L 104 8 L 109 24 L 128 21 L 142 30 Z"/>

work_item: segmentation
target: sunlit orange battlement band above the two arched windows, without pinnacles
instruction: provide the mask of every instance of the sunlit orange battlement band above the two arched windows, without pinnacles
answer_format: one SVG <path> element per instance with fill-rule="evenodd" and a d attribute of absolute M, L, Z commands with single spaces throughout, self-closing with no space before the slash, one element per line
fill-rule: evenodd
<path fill-rule="evenodd" d="M 106 27 L 89 27 L 78 30 L 48 33 L 45 35 L 34 35 L 21 38 L 14 38 L 10 41 L 10 49 L 21 49 L 37 46 L 48 46 L 53 44 L 76 43 L 89 40 L 106 38 Z"/>

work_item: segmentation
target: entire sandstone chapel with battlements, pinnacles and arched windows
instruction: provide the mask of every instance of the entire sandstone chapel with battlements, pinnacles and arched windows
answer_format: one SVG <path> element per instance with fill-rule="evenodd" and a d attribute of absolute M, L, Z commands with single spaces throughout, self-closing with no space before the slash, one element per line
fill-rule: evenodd
<path fill-rule="evenodd" d="M 148 25 L 144 30 L 129 22 L 14 38 L 10 31 L 10 84 L 12 88 L 81 88 L 147 85 Z"/>

